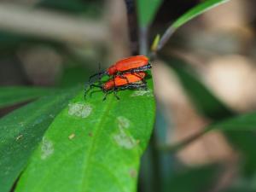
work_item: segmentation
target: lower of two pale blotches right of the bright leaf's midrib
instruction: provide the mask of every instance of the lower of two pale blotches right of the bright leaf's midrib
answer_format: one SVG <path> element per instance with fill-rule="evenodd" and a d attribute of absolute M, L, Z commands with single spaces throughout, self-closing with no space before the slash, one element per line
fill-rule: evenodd
<path fill-rule="evenodd" d="M 123 130 L 120 130 L 118 134 L 113 135 L 113 139 L 123 148 L 131 149 L 137 146 L 137 141 L 133 137 L 127 135 Z"/>

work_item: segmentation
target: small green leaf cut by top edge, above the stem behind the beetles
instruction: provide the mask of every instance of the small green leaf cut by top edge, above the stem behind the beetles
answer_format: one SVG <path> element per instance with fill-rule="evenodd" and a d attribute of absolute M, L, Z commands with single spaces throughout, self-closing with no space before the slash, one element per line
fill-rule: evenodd
<path fill-rule="evenodd" d="M 137 11 L 140 26 L 148 26 L 154 19 L 162 0 L 137 0 Z"/>

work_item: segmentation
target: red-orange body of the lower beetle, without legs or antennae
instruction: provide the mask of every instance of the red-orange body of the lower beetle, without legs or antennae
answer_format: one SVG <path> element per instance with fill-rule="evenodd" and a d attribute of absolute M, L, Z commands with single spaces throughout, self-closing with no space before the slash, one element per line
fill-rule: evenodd
<path fill-rule="evenodd" d="M 114 79 L 110 79 L 108 82 L 103 84 L 103 90 L 112 90 L 114 87 L 123 86 L 125 84 L 135 83 L 144 79 L 146 73 L 140 72 L 137 74 L 125 73 L 121 76 L 116 76 Z"/>

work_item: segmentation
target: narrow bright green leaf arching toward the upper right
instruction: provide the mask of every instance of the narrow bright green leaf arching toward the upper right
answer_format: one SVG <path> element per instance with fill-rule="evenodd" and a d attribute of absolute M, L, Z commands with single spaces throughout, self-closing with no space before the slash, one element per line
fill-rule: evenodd
<path fill-rule="evenodd" d="M 189 9 L 188 12 L 181 15 L 177 20 L 175 20 L 171 26 L 169 26 L 166 30 L 166 32 L 163 34 L 162 38 L 160 39 L 160 43 L 158 46 L 158 49 L 161 49 L 168 41 L 169 38 L 171 38 L 172 34 L 176 32 L 177 28 L 180 26 L 183 26 L 186 22 L 189 20 L 192 20 L 198 15 L 203 14 L 209 9 L 215 8 L 218 5 L 222 3 L 226 3 L 230 0 L 207 0 L 203 3 L 198 4 L 192 9 Z"/>

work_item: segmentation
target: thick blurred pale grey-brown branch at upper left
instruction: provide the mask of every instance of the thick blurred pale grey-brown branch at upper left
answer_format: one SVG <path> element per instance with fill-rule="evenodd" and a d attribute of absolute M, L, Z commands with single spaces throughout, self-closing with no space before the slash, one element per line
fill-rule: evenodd
<path fill-rule="evenodd" d="M 71 44 L 108 40 L 108 27 L 95 20 L 82 20 L 8 3 L 0 3 L 0 29 Z"/>

